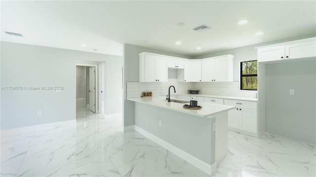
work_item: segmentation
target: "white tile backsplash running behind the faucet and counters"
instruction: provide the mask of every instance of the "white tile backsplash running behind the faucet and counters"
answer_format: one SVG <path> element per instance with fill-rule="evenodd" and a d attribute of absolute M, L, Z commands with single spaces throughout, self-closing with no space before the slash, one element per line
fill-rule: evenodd
<path fill-rule="evenodd" d="M 173 85 L 176 94 L 187 94 L 188 90 L 200 90 L 200 94 L 223 95 L 233 97 L 256 98 L 257 91 L 239 90 L 239 82 L 178 82 L 169 78 L 168 82 L 127 82 L 127 98 L 141 97 L 142 92 L 153 92 L 153 96 L 168 94 L 168 88 Z M 174 94 L 170 90 L 170 94 Z"/>

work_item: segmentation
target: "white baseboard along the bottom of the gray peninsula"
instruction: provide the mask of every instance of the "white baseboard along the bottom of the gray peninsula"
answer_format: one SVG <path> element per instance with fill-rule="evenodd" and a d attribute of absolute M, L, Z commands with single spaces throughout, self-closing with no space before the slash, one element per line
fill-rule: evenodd
<path fill-rule="evenodd" d="M 130 126 L 128 126 L 130 127 Z M 147 132 L 146 130 L 134 125 L 135 131 L 139 132 L 140 134 L 144 135 L 145 137 L 151 139 L 152 141 L 158 143 L 162 147 L 168 149 L 172 153 L 176 154 L 177 156 L 183 158 L 187 162 L 191 163 L 192 165 L 196 166 L 198 169 L 202 170 L 203 172 L 209 174 L 209 175 L 214 175 L 217 165 L 216 162 L 213 164 L 207 164 L 206 162 L 203 162 L 202 160 L 196 158 L 195 156 L 183 151 L 182 149 L 170 144 L 169 142 L 166 142 L 155 135 Z"/>

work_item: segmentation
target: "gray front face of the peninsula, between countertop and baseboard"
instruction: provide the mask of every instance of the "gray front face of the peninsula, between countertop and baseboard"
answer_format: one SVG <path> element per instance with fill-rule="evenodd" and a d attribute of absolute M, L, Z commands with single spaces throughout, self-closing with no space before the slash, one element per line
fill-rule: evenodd
<path fill-rule="evenodd" d="M 135 103 L 135 125 L 198 159 L 215 162 L 215 119 Z M 159 120 L 162 126 L 159 127 Z"/>

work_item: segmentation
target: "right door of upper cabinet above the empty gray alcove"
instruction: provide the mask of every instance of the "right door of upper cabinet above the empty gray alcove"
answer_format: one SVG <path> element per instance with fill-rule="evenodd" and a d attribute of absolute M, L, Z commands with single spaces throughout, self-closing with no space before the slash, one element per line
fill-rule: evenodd
<path fill-rule="evenodd" d="M 307 58 L 316 56 L 316 41 L 285 45 L 285 59 Z"/>

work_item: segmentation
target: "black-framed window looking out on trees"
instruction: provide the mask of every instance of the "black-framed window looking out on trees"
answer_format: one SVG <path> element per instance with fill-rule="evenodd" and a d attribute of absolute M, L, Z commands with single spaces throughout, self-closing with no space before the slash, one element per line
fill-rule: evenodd
<path fill-rule="evenodd" d="M 240 63 L 240 90 L 258 89 L 257 60 Z"/>

